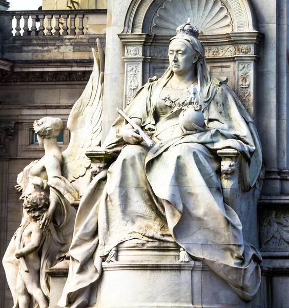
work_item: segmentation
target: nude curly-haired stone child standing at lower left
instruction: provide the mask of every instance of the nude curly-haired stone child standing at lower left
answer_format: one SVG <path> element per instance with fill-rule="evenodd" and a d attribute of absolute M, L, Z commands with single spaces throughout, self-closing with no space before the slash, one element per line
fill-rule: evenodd
<path fill-rule="evenodd" d="M 16 233 L 16 258 L 19 259 L 16 291 L 19 308 L 30 306 L 30 295 L 36 300 L 39 308 L 48 308 L 47 297 L 40 287 L 40 256 L 45 232 L 39 223 L 49 208 L 49 199 L 44 192 L 33 192 L 23 203 L 27 218 Z"/>

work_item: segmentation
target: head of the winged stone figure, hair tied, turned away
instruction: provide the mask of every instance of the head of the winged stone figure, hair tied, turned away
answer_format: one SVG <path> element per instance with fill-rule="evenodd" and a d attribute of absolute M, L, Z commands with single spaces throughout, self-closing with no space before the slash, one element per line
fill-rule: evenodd
<path fill-rule="evenodd" d="M 43 139 L 57 138 L 60 132 L 63 132 L 63 124 L 61 119 L 45 117 L 34 121 L 33 129 L 37 134 L 40 146 L 43 146 Z"/>

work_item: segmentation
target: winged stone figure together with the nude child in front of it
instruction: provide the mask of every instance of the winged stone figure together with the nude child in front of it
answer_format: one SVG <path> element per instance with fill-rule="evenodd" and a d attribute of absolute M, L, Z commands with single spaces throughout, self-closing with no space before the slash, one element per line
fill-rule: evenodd
<path fill-rule="evenodd" d="M 80 199 L 91 181 L 85 153 L 101 140 L 105 52 L 98 39 L 97 47 L 98 53 L 92 50 L 90 80 L 68 118 L 67 149 L 62 151 L 57 144 L 63 131 L 59 118 L 45 117 L 33 125 L 45 155 L 18 175 L 15 188 L 22 192 L 23 218 L 3 258 L 14 308 L 48 308 L 46 269 L 67 257 L 76 216 L 71 203 Z M 40 296 L 35 288 L 41 290 L 36 292 Z"/>

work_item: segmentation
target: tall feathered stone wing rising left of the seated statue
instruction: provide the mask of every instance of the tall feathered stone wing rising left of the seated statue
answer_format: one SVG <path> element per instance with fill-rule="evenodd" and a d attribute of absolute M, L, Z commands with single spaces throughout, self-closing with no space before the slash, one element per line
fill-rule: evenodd
<path fill-rule="evenodd" d="M 69 114 L 67 127 L 71 139 L 63 152 L 62 174 L 80 196 L 91 180 L 91 161 L 85 153 L 89 148 L 100 145 L 101 141 L 105 52 L 98 38 L 97 47 L 98 54 L 92 49 L 94 65 L 89 82 Z"/>

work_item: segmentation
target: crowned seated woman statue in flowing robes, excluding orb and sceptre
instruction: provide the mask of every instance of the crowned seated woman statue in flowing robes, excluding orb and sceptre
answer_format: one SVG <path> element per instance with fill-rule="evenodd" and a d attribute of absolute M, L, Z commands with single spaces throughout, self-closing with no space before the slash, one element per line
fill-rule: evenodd
<path fill-rule="evenodd" d="M 240 152 L 246 172 L 240 185 L 250 190 L 260 173 L 260 141 L 236 94 L 225 82 L 212 79 L 197 37 L 190 22 L 177 29 L 170 40 L 169 68 L 159 80 L 144 85 L 125 110 L 151 132 L 155 146 L 144 145 L 122 117 L 102 144 L 118 157 L 97 176 L 97 180 L 107 176 L 101 196 L 88 189 L 82 197 L 61 307 L 88 305 L 90 286 L 101 275 L 101 261 L 113 259 L 114 248 L 132 239 L 176 242 L 242 299 L 251 300 L 258 291 L 262 259 L 244 241 L 234 209 L 224 203 L 217 150 Z M 192 85 L 197 88 L 204 125 L 194 124 L 186 133 L 179 115 L 191 103 Z"/>

